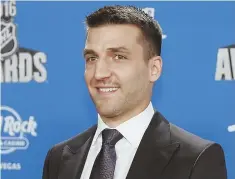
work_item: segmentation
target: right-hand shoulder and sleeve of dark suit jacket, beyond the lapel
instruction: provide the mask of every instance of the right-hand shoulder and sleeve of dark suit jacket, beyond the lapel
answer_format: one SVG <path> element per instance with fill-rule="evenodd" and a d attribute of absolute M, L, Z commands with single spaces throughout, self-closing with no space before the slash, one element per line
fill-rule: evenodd
<path fill-rule="evenodd" d="M 169 125 L 171 140 L 180 143 L 167 167 L 171 174 L 190 179 L 227 178 L 224 152 L 219 144 Z"/>

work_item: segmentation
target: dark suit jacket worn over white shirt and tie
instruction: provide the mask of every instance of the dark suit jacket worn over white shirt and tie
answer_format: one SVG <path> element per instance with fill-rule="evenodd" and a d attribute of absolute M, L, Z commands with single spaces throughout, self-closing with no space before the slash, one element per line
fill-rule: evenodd
<path fill-rule="evenodd" d="M 43 179 L 80 179 L 96 128 L 55 145 L 46 156 Z M 155 112 L 127 175 L 127 179 L 226 178 L 220 145 L 170 124 L 159 112 Z"/>

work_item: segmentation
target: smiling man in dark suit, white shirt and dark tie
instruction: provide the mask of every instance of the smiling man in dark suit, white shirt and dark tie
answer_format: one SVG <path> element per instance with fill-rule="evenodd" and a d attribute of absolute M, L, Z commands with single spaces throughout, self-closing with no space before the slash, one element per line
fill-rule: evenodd
<path fill-rule="evenodd" d="M 98 124 L 55 145 L 43 179 L 226 179 L 219 144 L 153 109 L 162 71 L 159 24 L 132 6 L 101 8 L 86 24 L 85 81 Z"/>

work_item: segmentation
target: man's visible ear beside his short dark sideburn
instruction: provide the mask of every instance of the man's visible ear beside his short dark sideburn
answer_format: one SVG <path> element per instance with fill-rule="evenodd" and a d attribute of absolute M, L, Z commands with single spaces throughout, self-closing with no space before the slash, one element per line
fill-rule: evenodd
<path fill-rule="evenodd" d="M 154 56 L 149 59 L 149 81 L 154 83 L 157 81 L 162 73 L 162 58 Z"/>

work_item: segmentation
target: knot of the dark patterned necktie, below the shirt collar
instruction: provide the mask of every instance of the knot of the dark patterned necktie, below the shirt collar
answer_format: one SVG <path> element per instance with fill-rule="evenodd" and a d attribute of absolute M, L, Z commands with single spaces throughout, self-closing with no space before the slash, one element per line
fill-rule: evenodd
<path fill-rule="evenodd" d="M 115 145 L 122 137 L 116 129 L 104 129 L 102 132 L 103 144 Z"/>

